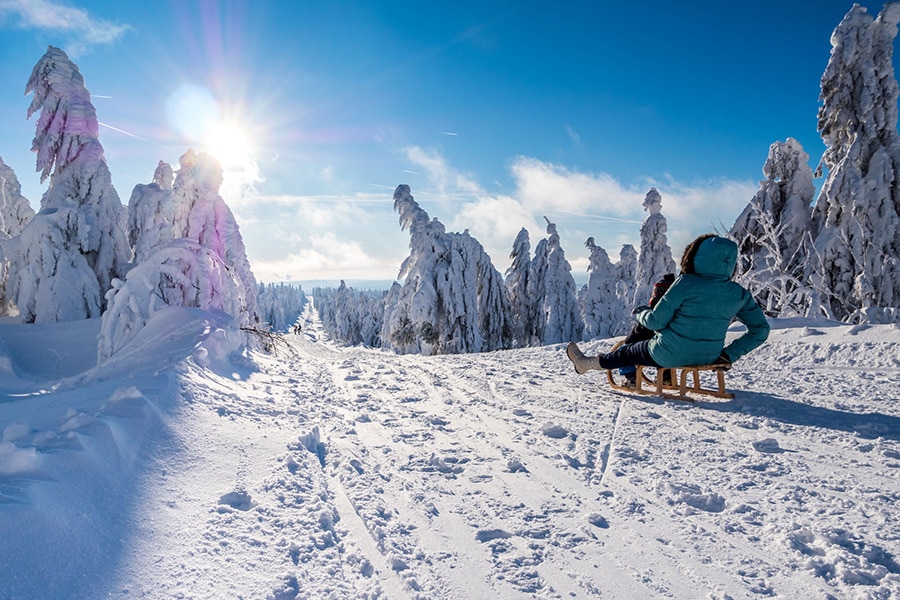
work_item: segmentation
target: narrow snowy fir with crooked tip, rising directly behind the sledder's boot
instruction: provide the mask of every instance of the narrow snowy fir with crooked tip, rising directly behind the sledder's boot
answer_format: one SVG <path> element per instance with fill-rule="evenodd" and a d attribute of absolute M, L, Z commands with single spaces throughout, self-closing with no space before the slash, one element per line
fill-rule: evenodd
<path fill-rule="evenodd" d="M 538 242 L 531 261 L 526 293 L 531 299 L 531 322 L 539 343 L 558 344 L 581 339 L 584 323 L 572 266 L 559 243 L 556 224 L 547 221 L 547 237 Z"/>

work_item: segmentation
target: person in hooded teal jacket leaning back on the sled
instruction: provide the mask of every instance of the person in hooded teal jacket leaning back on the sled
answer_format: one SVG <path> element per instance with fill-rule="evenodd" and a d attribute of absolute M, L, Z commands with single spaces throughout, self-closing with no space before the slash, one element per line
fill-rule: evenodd
<path fill-rule="evenodd" d="M 750 292 L 731 281 L 736 263 L 733 241 L 714 234 L 698 237 L 685 248 L 680 275 L 656 305 L 633 311 L 639 324 L 653 330 L 653 337 L 594 357 L 570 343 L 566 354 L 575 371 L 730 364 L 761 345 L 769 337 L 769 323 Z M 725 346 L 735 319 L 747 331 Z"/>

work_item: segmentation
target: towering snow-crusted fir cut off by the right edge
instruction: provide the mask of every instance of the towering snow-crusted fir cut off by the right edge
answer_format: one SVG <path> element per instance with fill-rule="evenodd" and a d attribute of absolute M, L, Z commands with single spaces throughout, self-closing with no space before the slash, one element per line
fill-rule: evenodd
<path fill-rule="evenodd" d="M 819 132 L 828 173 L 813 211 L 814 285 L 833 314 L 900 307 L 900 135 L 892 62 L 900 3 L 856 4 L 831 35 Z"/>

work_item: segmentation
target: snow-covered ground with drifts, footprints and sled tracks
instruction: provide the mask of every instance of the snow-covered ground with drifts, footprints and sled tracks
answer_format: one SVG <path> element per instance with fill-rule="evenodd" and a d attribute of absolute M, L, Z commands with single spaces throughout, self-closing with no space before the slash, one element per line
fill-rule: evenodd
<path fill-rule="evenodd" d="M 560 345 L 98 330 L 0 326 L 4 599 L 900 597 L 897 326 L 775 322 L 696 403 Z"/>

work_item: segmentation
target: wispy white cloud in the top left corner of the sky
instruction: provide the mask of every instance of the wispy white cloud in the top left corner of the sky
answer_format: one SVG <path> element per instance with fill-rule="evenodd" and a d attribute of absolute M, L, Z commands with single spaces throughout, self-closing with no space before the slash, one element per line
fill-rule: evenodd
<path fill-rule="evenodd" d="M 131 29 L 93 18 L 82 8 L 50 0 L 0 0 L 0 22 L 7 18 L 22 29 L 52 30 L 72 36 L 70 54 L 97 44 L 111 44 Z"/>

